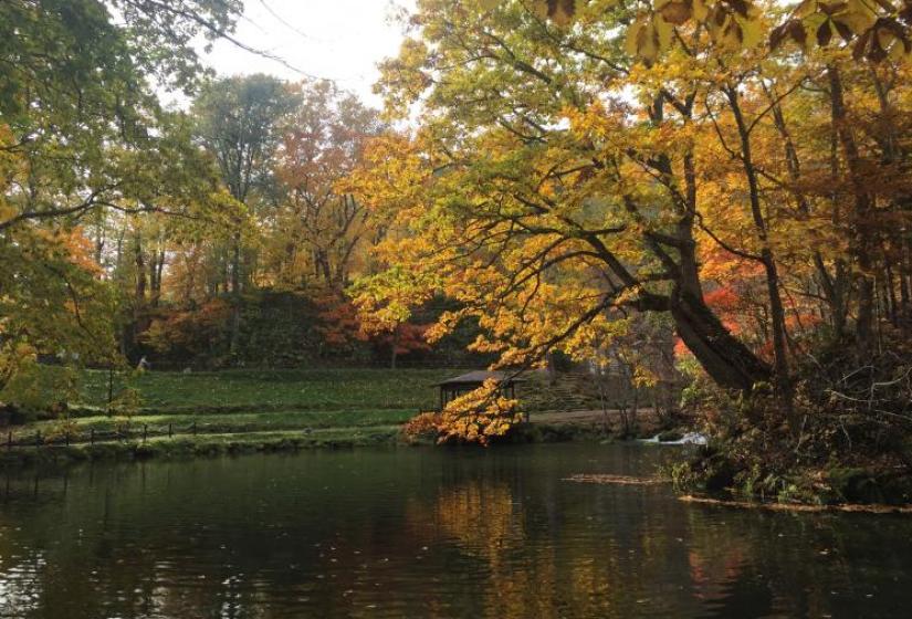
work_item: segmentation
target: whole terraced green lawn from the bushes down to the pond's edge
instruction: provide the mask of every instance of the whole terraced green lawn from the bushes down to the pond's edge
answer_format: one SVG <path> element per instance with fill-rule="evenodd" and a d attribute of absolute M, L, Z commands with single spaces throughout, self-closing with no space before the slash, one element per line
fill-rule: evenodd
<path fill-rule="evenodd" d="M 52 379 L 52 373 L 60 370 L 46 371 Z M 128 417 L 108 417 L 108 374 L 88 370 L 80 395 L 70 402 L 70 419 L 7 429 L 15 448 L 0 450 L 0 460 L 23 463 L 59 457 L 84 460 L 382 444 L 396 440 L 399 426 L 417 412 L 436 408 L 439 381 L 463 371 L 146 371 L 129 380 L 115 375 L 115 397 L 127 386 L 135 388 L 139 409 Z M 534 385 L 524 386 L 533 397 Z M 55 447 L 45 449 L 49 444 Z"/>

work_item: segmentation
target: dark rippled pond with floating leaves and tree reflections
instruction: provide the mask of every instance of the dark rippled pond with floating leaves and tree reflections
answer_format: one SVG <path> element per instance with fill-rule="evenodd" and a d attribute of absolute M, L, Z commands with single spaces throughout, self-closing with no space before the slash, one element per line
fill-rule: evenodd
<path fill-rule="evenodd" d="M 0 617 L 899 617 L 912 518 L 682 503 L 674 448 L 313 451 L 0 478 Z"/>

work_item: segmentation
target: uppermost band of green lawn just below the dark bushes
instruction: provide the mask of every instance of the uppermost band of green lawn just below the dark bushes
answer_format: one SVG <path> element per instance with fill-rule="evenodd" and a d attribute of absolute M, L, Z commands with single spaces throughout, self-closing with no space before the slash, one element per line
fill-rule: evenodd
<path fill-rule="evenodd" d="M 437 403 L 434 385 L 459 370 L 300 369 L 220 373 L 147 371 L 128 384 L 147 412 L 265 410 L 423 410 Z M 114 391 L 125 381 L 115 377 Z M 76 407 L 104 408 L 108 375 L 87 371 Z"/>

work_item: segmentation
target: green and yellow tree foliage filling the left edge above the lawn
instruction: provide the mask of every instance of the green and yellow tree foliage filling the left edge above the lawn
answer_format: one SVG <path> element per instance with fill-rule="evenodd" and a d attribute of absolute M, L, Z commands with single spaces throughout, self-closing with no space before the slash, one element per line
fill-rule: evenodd
<path fill-rule="evenodd" d="M 192 87 L 200 65 L 190 40 L 230 35 L 240 8 L 0 4 L 0 390 L 39 355 L 116 357 L 116 296 L 98 267 L 109 214 L 198 217 L 207 195 L 206 175 L 193 176 L 198 150 L 149 82 Z"/>

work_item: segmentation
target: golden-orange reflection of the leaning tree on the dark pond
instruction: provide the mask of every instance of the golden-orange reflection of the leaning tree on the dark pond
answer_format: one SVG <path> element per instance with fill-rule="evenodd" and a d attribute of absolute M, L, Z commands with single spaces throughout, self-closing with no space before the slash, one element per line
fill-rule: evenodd
<path fill-rule="evenodd" d="M 472 480 L 441 490 L 433 508 L 461 557 L 480 563 L 483 580 L 469 592 L 479 598 L 479 616 L 629 617 L 647 608 L 683 611 L 688 601 L 696 610 L 693 598 L 682 599 L 688 557 L 664 515 L 611 518 L 642 510 L 643 493 L 628 491 L 608 504 L 593 494 L 562 503 L 558 514 L 548 508 L 558 496 L 517 494 L 507 483 Z M 585 515 L 599 512 L 595 521 Z"/>

